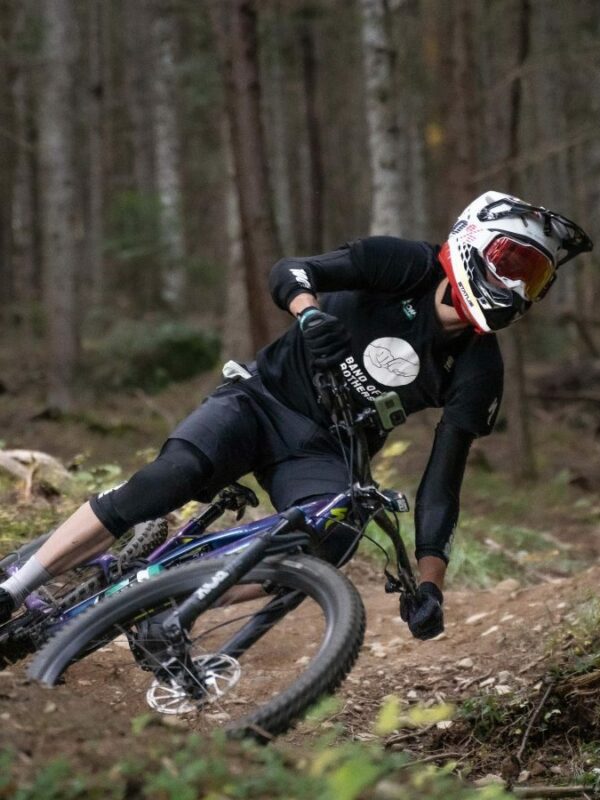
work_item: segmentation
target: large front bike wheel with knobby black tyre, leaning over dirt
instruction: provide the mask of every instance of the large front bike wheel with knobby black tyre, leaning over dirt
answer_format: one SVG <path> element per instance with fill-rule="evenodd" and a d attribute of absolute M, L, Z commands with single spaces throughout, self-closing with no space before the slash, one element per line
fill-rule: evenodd
<path fill-rule="evenodd" d="M 50 640 L 30 677 L 53 685 L 64 675 L 80 692 L 90 679 L 116 675 L 132 714 L 147 704 L 185 714 L 204 732 L 224 727 L 262 740 L 282 733 L 351 669 L 364 636 L 362 601 L 320 559 L 266 559 L 195 620 L 185 663 L 169 658 L 161 621 L 225 566 L 182 566 L 104 600 Z"/>

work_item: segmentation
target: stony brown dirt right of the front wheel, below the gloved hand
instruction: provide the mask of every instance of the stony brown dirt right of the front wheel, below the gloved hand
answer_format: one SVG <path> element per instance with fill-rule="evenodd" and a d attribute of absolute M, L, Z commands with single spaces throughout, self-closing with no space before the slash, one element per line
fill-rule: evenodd
<path fill-rule="evenodd" d="M 553 655 L 554 632 L 593 596 L 599 578 L 600 567 L 594 567 L 530 587 L 508 579 L 491 590 L 449 591 L 445 633 L 420 642 L 397 615 L 397 598 L 384 594 L 371 576 L 361 586 L 368 612 L 365 644 L 341 690 L 345 703 L 336 721 L 349 735 L 369 739 L 389 694 L 432 705 L 534 685 Z"/>

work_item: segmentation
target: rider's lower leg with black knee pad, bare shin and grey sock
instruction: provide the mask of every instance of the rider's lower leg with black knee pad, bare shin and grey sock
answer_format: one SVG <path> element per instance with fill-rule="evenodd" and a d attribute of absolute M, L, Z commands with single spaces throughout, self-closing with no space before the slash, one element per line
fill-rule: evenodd
<path fill-rule="evenodd" d="M 129 481 L 77 509 L 0 590 L 9 593 L 14 607 L 20 605 L 49 578 L 102 553 L 133 525 L 193 499 L 211 474 L 212 464 L 198 448 L 169 439 L 158 458 Z M 2 616 L 6 612 L 0 610 Z"/>

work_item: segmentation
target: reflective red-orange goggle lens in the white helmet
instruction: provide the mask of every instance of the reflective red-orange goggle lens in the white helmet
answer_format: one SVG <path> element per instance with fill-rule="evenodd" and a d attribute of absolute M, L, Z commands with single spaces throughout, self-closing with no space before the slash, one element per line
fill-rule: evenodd
<path fill-rule="evenodd" d="M 537 300 L 554 276 L 554 264 L 548 256 L 506 236 L 494 239 L 484 256 L 498 277 L 522 281 L 529 300 Z"/>

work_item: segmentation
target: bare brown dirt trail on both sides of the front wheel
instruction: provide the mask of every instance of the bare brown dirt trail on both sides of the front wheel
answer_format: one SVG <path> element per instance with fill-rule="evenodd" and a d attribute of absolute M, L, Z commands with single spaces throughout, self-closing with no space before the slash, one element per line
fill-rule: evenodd
<path fill-rule="evenodd" d="M 430 642 L 412 639 L 397 614 L 397 596 L 386 595 L 380 574 L 354 564 L 351 577 L 367 607 L 368 628 L 359 660 L 340 690 L 335 722 L 347 736 L 374 738 L 382 698 L 394 693 L 410 702 L 456 702 L 484 689 L 502 693 L 533 685 L 544 670 L 548 641 L 571 610 L 596 591 L 600 567 L 570 578 L 521 588 L 447 593 L 446 633 Z M 85 677 L 79 683 L 86 683 Z M 24 763 L 66 755 L 101 767 L 144 750 L 149 737 L 168 737 L 163 722 L 132 735 L 131 714 L 110 669 L 90 702 L 68 687 L 29 684 L 22 666 L 0 673 L 0 745 L 15 747 Z M 331 725 L 329 720 L 325 726 Z M 314 735 L 300 725 L 284 737 L 301 743 Z"/>

